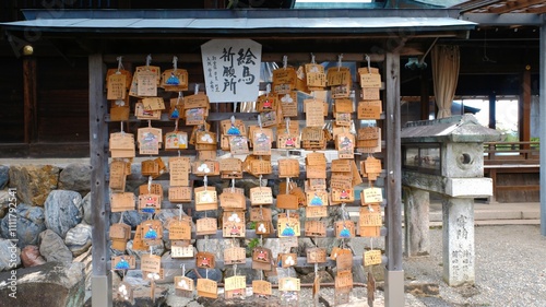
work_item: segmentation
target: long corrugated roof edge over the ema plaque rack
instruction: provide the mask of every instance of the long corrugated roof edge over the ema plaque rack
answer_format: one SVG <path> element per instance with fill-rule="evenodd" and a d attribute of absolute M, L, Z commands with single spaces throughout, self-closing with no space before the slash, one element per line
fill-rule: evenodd
<path fill-rule="evenodd" d="M 355 12 L 359 11 L 359 12 Z M 411 27 L 422 31 L 472 29 L 475 24 L 451 17 L 449 10 L 274 10 L 266 11 L 76 11 L 52 17 L 25 11 L 31 20 L 2 23 L 7 29 L 94 33 L 380 33 Z M 194 12 L 194 14 L 192 14 Z M 428 12 L 428 13 L 427 13 Z M 48 17 L 49 16 L 49 17 Z"/>

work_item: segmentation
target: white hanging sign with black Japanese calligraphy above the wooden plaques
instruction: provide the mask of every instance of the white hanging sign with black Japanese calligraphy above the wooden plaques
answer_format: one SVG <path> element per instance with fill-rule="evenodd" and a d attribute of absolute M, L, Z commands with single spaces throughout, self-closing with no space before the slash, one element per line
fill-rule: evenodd
<path fill-rule="evenodd" d="M 201 45 L 201 57 L 211 103 L 258 98 L 262 45 L 251 39 L 212 39 Z"/>

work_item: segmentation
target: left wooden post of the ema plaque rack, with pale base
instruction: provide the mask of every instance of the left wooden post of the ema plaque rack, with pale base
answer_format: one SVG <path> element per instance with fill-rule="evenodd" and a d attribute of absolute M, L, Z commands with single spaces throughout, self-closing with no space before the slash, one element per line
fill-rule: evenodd
<path fill-rule="evenodd" d="M 94 54 L 88 57 L 90 67 L 90 157 L 91 157 L 91 208 L 93 221 L 93 307 L 111 307 L 111 276 L 106 263 L 109 260 L 107 233 L 109 219 L 106 216 L 108 167 L 107 128 L 104 121 L 107 102 L 104 95 L 105 69 L 103 56 Z"/>

